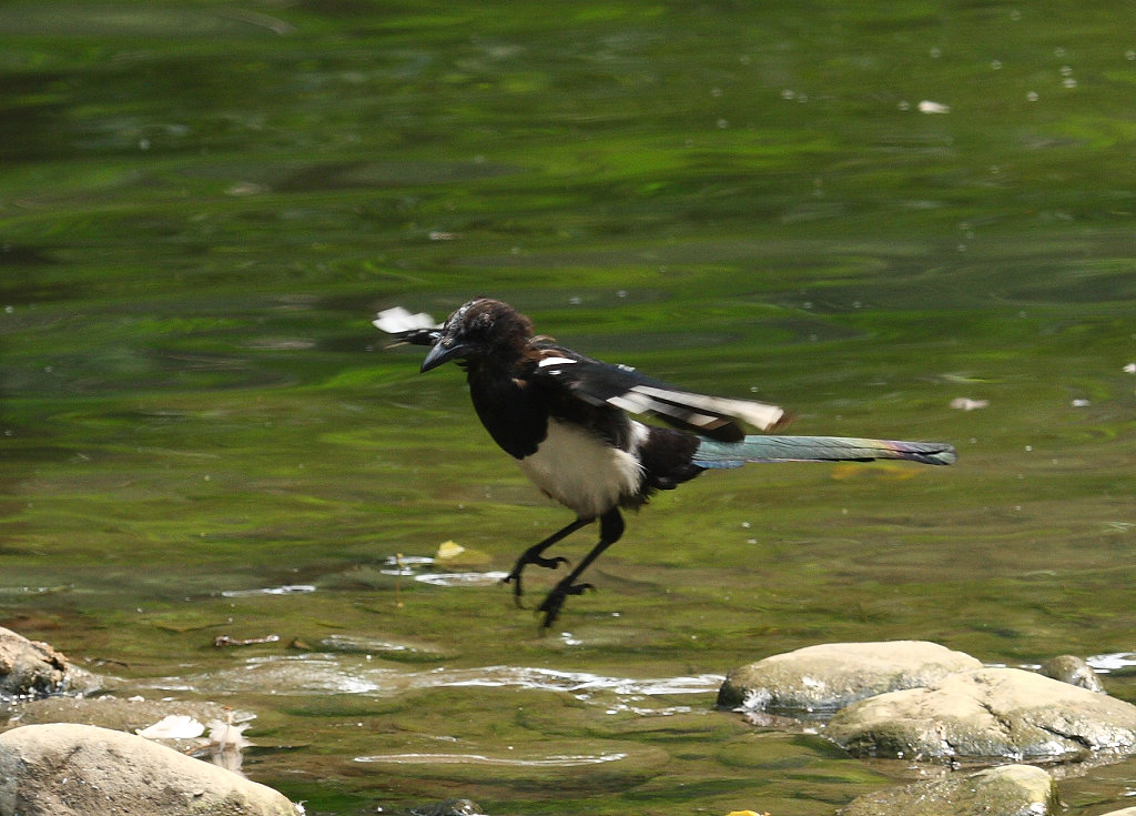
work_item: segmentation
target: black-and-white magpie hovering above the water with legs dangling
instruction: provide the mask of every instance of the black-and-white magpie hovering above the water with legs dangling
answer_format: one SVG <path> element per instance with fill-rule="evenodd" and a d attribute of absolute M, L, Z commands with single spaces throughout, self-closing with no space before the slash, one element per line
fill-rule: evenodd
<path fill-rule="evenodd" d="M 493 440 L 546 496 L 575 521 L 526 549 L 512 572 L 520 605 L 525 567 L 551 569 L 568 559 L 545 550 L 600 522 L 600 540 L 537 607 L 543 628 L 569 596 L 593 589 L 579 577 L 624 533 L 621 509 L 638 508 L 708 469 L 751 461 L 869 461 L 908 459 L 950 465 L 954 448 L 939 442 L 894 442 L 841 436 L 746 435 L 743 425 L 772 431 L 785 411 L 771 405 L 694 393 L 634 368 L 609 365 L 534 335 L 533 323 L 508 303 L 476 298 L 444 324 L 402 308 L 381 311 L 374 324 L 393 344 L 427 345 L 421 370 L 456 361 Z M 628 414 L 652 415 L 670 427 Z"/>

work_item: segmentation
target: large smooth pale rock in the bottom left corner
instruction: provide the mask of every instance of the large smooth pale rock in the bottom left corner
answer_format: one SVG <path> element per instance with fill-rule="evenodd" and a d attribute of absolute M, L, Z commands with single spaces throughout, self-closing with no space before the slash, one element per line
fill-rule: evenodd
<path fill-rule="evenodd" d="M 0 816 L 296 816 L 272 788 L 90 725 L 0 734 Z"/>

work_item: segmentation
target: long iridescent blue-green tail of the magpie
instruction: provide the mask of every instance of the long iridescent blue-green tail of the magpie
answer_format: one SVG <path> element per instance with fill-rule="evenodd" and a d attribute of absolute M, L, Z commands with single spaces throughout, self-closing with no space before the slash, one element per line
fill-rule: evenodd
<path fill-rule="evenodd" d="M 847 436 L 746 436 L 741 442 L 703 439 L 694 452 L 701 467 L 741 467 L 750 461 L 871 461 L 907 459 L 952 465 L 954 447 L 945 442 L 895 442 Z"/>

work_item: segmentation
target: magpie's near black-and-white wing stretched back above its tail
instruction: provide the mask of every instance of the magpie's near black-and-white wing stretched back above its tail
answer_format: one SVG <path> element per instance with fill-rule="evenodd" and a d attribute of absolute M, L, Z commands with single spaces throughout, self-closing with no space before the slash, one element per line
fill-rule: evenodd
<path fill-rule="evenodd" d="M 613 366 L 551 343 L 534 343 L 533 348 L 534 381 L 568 389 L 592 405 L 658 416 L 669 425 L 720 442 L 743 440 L 741 423 L 771 431 L 785 418 L 777 406 L 692 393 L 628 366 Z"/>

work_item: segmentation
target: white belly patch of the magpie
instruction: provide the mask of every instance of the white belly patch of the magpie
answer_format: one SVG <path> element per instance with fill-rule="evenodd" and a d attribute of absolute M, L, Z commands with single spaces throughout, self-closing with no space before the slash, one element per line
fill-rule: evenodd
<path fill-rule="evenodd" d="M 533 484 L 580 518 L 602 516 L 640 486 L 641 467 L 632 453 L 556 419 L 549 419 L 548 436 L 536 452 L 518 464 Z"/>

